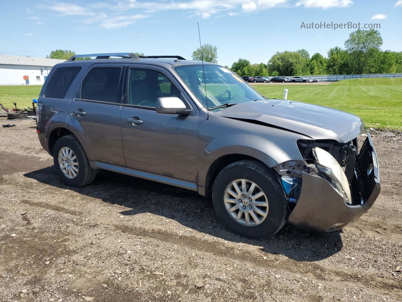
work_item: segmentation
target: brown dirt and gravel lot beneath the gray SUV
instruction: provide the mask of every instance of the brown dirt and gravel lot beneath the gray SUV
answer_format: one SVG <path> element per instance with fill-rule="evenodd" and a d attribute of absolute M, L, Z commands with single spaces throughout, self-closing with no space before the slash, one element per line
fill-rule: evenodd
<path fill-rule="evenodd" d="M 13 123 L 0 128 L 0 301 L 402 300 L 400 134 L 373 132 L 382 191 L 358 221 L 250 240 L 195 192 L 111 172 L 70 188 L 35 121 Z"/>

